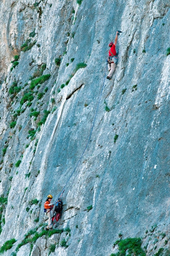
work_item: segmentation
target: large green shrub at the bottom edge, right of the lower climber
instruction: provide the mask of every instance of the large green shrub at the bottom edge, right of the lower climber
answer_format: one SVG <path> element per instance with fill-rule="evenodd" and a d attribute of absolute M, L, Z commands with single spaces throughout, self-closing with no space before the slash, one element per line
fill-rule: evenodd
<path fill-rule="evenodd" d="M 127 238 L 116 241 L 119 246 L 119 252 L 112 253 L 112 256 L 145 256 L 144 250 L 141 248 L 142 241 L 140 238 Z M 128 254 L 127 254 L 128 250 Z"/>

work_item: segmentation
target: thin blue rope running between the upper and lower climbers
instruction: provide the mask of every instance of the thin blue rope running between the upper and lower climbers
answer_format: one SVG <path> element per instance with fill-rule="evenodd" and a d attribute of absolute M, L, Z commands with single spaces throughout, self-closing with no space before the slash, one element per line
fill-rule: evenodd
<path fill-rule="evenodd" d="M 81 159 L 82 159 L 82 157 L 83 157 L 83 155 L 84 155 L 84 152 L 85 152 L 85 150 L 87 149 L 87 146 L 89 145 L 89 142 L 90 142 L 90 139 L 91 139 L 91 134 L 92 134 L 93 127 L 94 127 L 94 123 L 95 123 L 95 121 L 96 121 L 96 116 L 97 116 L 97 112 L 98 112 L 98 107 L 99 107 L 100 100 L 101 100 L 101 97 L 102 97 L 102 92 L 103 92 L 103 89 L 104 89 L 104 82 L 105 82 L 105 79 L 106 79 L 106 71 L 107 71 L 107 63 L 106 63 L 105 74 L 104 74 L 104 76 L 103 76 L 102 90 L 101 90 L 101 92 L 100 92 L 100 97 L 99 97 L 99 100 L 98 100 L 98 104 L 97 104 L 97 108 L 96 108 L 96 113 L 95 113 L 95 115 L 94 115 L 94 120 L 93 120 L 93 125 L 92 125 L 92 127 L 91 127 L 91 132 L 90 132 L 90 135 L 89 135 L 89 140 L 87 141 L 87 144 L 86 144 L 86 146 L 85 146 L 85 148 L 84 148 L 84 150 L 83 150 L 83 153 L 81 154 L 81 157 L 79 158 L 79 161 L 78 161 L 77 164 L 76 164 L 76 167 L 75 167 L 74 170 L 72 171 L 72 173 L 71 173 L 70 177 L 68 178 L 66 184 L 64 185 L 62 191 L 60 192 L 59 196 L 57 197 L 57 200 L 54 202 L 54 205 L 56 204 L 56 202 L 58 201 L 58 199 L 59 199 L 60 197 L 62 197 L 62 194 L 64 193 L 64 189 L 65 189 L 66 185 L 68 184 L 68 182 L 69 182 L 70 178 L 72 177 L 73 173 L 76 171 L 76 168 L 77 168 L 77 166 L 79 165 L 79 162 L 81 161 Z"/>

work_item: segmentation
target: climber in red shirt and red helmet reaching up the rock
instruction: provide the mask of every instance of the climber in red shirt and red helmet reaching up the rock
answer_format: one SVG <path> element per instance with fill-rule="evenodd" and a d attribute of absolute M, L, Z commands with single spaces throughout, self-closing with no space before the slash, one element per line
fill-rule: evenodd
<path fill-rule="evenodd" d="M 115 71 L 116 64 L 113 59 L 114 59 L 114 56 L 116 56 L 116 44 L 117 44 L 117 38 L 119 36 L 119 32 L 118 31 L 116 32 L 114 44 L 113 42 L 109 44 L 110 50 L 109 50 L 109 57 L 108 57 L 108 69 L 110 72 L 106 77 L 107 79 L 111 79 L 113 72 Z"/>

